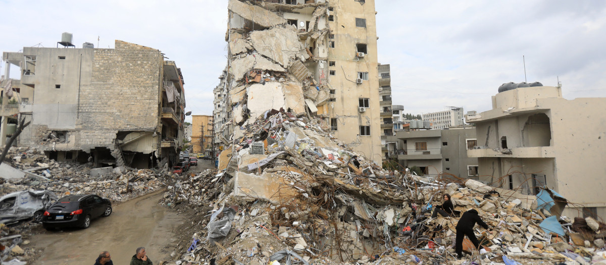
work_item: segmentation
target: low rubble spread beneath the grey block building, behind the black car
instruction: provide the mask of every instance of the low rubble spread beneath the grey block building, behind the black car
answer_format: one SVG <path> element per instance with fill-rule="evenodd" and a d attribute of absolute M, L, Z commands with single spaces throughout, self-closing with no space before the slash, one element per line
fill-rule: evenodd
<path fill-rule="evenodd" d="M 4 163 L 31 174 L 28 178 L 0 178 L 0 194 L 46 189 L 58 197 L 94 193 L 119 202 L 158 191 L 171 178 L 164 170 L 92 168 L 92 163 L 56 162 L 34 148 L 11 148 Z"/>

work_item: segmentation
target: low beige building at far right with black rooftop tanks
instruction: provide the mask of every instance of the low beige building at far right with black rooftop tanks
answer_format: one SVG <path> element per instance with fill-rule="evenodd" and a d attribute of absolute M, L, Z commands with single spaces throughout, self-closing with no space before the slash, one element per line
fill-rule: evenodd
<path fill-rule="evenodd" d="M 562 98 L 561 87 L 520 87 L 492 97 L 476 125 L 480 180 L 536 194 L 547 186 L 569 203 L 568 217 L 606 218 L 606 98 Z"/>

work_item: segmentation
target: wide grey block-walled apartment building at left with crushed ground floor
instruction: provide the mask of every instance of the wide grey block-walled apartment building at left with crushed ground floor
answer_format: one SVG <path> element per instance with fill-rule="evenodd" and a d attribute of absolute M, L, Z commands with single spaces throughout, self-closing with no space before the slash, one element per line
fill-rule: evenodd
<path fill-rule="evenodd" d="M 124 41 L 115 48 L 83 48 L 64 33 L 65 48 L 24 47 L 4 52 L 2 82 L 19 102 L 3 106 L 2 143 L 17 120 L 31 124 L 16 146 L 51 159 L 100 166 L 171 166 L 182 146 L 185 96 L 181 70 L 161 51 Z M 10 100 L 6 94 L 3 101 Z M 9 109 L 10 111 L 7 111 Z M 6 115 L 4 115 L 6 114 Z M 10 135 L 10 134 L 9 134 Z"/>

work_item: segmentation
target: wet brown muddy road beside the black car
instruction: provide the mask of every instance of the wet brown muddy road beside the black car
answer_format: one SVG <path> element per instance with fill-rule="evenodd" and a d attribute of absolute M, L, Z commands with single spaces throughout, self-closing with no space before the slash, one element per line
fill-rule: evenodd
<path fill-rule="evenodd" d="M 35 264 L 93 264 L 103 250 L 114 264 L 128 264 L 135 249 L 143 246 L 157 264 L 167 260 L 176 242 L 182 217 L 158 204 L 162 191 L 114 205 L 107 218 L 93 220 L 88 229 L 45 231 L 32 237 L 32 247 L 44 249 Z"/>

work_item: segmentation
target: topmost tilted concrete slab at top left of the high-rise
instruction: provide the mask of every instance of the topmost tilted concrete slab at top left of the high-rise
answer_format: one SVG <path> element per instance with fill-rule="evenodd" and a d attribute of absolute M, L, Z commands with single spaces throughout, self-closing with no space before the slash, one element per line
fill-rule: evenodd
<path fill-rule="evenodd" d="M 265 8 L 240 2 L 238 0 L 230 0 L 227 8 L 233 13 L 236 13 L 236 15 L 249 21 L 254 21 L 255 24 L 266 28 L 286 23 L 286 19 L 279 17 Z"/>

